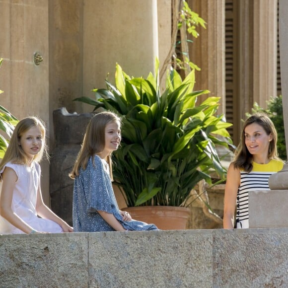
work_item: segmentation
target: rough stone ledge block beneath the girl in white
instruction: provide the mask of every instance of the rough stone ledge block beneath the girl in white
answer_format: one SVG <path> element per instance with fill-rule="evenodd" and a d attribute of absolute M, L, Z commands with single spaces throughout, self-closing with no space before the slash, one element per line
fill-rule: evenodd
<path fill-rule="evenodd" d="M 87 233 L 0 235 L 0 287 L 87 287 Z"/>

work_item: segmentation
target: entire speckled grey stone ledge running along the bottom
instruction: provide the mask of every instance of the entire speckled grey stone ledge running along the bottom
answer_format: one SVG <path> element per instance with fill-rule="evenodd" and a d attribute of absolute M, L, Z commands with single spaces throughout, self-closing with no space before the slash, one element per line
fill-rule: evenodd
<path fill-rule="evenodd" d="M 287 287 L 288 228 L 0 235 L 0 287 Z"/>

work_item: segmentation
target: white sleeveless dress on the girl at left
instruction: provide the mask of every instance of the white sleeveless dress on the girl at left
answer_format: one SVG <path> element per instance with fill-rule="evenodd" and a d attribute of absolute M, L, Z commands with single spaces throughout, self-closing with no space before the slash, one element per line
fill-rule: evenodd
<path fill-rule="evenodd" d="M 33 229 L 42 232 L 61 233 L 62 227 L 56 222 L 39 218 L 36 213 L 37 190 L 40 185 L 41 168 L 33 161 L 31 167 L 25 164 L 14 164 L 8 162 L 0 171 L 0 176 L 5 167 L 13 169 L 18 177 L 13 191 L 11 209 L 23 221 Z M 22 230 L 10 224 L 0 216 L 0 234 L 20 234 Z"/>

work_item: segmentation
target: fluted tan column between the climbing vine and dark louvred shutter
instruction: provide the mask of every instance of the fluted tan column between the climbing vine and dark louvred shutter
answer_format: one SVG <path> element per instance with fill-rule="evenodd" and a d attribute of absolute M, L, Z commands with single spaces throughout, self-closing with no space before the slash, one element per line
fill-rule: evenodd
<path fill-rule="evenodd" d="M 201 68 L 196 72 L 195 90 L 208 89 L 221 97 L 219 113 L 225 113 L 225 1 L 188 0 L 190 8 L 207 23 L 200 36 L 189 44 L 190 60 Z M 201 96 L 204 100 L 208 96 Z"/>

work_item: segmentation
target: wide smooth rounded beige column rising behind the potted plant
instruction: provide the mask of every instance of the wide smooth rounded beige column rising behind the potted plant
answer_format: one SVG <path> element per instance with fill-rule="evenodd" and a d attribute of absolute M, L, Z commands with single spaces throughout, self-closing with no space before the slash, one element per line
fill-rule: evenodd
<path fill-rule="evenodd" d="M 154 72 L 158 57 L 156 0 L 86 0 L 83 11 L 83 94 L 115 79 L 116 62 L 134 77 Z M 91 109 L 91 107 L 89 107 Z"/>

